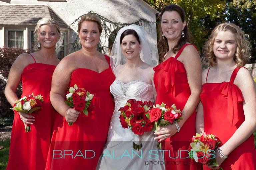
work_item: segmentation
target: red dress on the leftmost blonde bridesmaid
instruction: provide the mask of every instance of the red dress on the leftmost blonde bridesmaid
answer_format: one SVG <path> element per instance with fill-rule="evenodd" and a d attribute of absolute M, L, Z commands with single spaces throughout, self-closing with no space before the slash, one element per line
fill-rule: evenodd
<path fill-rule="evenodd" d="M 32 58 L 34 59 L 33 56 Z M 49 97 L 52 74 L 56 66 L 37 63 L 35 59 L 34 61 L 35 63 L 28 64 L 21 74 L 21 96 L 41 94 L 44 102 L 41 110 L 32 114 L 35 121 L 30 132 L 25 132 L 20 116 L 14 114 L 7 170 L 45 169 L 54 117 L 57 114 Z"/>

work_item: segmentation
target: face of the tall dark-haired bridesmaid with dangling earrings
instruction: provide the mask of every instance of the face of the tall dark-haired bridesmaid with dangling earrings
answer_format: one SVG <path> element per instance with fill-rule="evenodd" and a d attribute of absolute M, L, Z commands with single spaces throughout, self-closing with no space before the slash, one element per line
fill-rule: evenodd
<path fill-rule="evenodd" d="M 181 17 L 176 11 L 165 11 L 162 15 L 161 28 L 164 36 L 168 40 L 178 40 L 181 32 L 186 26 L 186 21 L 182 22 Z"/>

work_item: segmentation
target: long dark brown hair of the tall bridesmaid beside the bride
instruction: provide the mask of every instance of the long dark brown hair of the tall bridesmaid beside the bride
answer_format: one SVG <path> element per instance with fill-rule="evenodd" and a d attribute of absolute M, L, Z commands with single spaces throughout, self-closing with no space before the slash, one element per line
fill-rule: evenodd
<path fill-rule="evenodd" d="M 169 51 L 169 46 L 168 46 L 168 41 L 166 38 L 162 38 L 162 34 L 163 34 L 163 31 L 162 31 L 162 27 L 161 27 L 161 21 L 162 21 L 162 16 L 164 14 L 164 12 L 166 11 L 169 11 L 169 12 L 172 12 L 172 11 L 176 11 L 182 22 L 185 21 L 185 11 L 183 8 L 181 8 L 180 6 L 178 5 L 175 5 L 175 4 L 172 4 L 172 5 L 167 5 L 165 6 L 161 13 L 160 13 L 160 16 L 159 16 L 159 19 L 160 19 L 160 22 L 158 24 L 158 28 L 159 28 L 159 41 L 158 41 L 158 50 L 159 50 L 159 60 L 162 61 L 163 58 L 164 58 L 164 55 Z M 183 29 L 183 32 L 185 34 L 184 37 L 181 37 L 179 39 L 179 41 L 177 42 L 177 44 L 173 47 L 172 49 L 172 52 L 173 53 L 176 53 L 177 51 L 180 50 L 180 48 L 186 43 L 186 42 L 192 42 L 192 36 L 191 34 L 189 33 L 188 31 L 188 27 L 187 25 L 184 27 Z"/>

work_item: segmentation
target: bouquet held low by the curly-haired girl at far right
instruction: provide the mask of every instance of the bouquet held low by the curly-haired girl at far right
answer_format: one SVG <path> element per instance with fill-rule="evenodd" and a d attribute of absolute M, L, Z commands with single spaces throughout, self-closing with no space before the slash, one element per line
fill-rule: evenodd
<path fill-rule="evenodd" d="M 215 149 L 221 145 L 221 141 L 213 134 L 202 132 L 192 137 L 189 146 L 189 157 L 204 165 L 218 166 L 215 159 Z M 219 168 L 219 170 L 223 170 Z"/>

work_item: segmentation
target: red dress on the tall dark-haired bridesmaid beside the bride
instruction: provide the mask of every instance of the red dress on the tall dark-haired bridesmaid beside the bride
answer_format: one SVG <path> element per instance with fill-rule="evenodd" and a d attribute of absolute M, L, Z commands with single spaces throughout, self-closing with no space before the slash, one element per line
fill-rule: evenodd
<path fill-rule="evenodd" d="M 193 44 L 184 44 L 175 57 L 170 57 L 154 67 L 154 83 L 157 92 L 156 104 L 162 102 L 168 106 L 175 104 L 177 109 L 182 111 L 191 95 L 185 67 L 182 62 L 177 60 L 187 45 Z M 167 150 L 164 151 L 164 159 L 167 161 L 166 170 L 200 169 L 199 165 L 190 163 L 188 151 L 186 151 L 192 136 L 196 134 L 195 120 L 196 111 L 188 118 L 179 132 L 167 138 L 163 143 L 163 150 Z"/>

